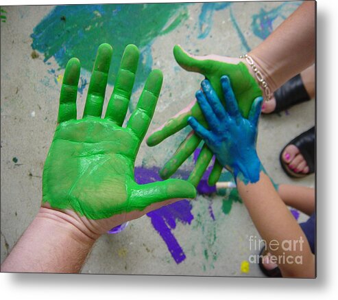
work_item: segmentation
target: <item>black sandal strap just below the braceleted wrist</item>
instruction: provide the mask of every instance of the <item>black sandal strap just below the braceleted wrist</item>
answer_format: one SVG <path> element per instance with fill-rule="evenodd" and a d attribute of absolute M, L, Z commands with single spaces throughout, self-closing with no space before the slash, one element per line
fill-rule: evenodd
<path fill-rule="evenodd" d="M 285 109 L 305 101 L 311 100 L 307 93 L 300 74 L 285 82 L 274 92 L 276 108 L 273 113 L 285 111 Z"/>

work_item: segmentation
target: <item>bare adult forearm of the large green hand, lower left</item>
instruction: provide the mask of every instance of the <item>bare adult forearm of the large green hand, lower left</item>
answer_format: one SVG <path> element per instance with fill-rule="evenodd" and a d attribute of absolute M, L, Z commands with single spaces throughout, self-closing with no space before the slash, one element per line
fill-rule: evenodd
<path fill-rule="evenodd" d="M 41 208 L 1 265 L 2 272 L 78 273 L 97 236 L 60 211 Z"/>

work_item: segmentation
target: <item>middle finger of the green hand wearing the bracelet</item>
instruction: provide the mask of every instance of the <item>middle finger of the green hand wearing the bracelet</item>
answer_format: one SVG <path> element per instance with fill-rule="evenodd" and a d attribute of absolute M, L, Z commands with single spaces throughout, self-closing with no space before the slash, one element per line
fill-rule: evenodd
<path fill-rule="evenodd" d="M 165 163 L 164 167 L 160 170 L 159 174 L 162 179 L 169 178 L 173 173 L 180 168 L 180 165 L 193 154 L 198 145 L 200 144 L 201 139 L 194 134 L 193 131 L 186 136 L 184 141 L 178 147 L 173 157 Z"/>

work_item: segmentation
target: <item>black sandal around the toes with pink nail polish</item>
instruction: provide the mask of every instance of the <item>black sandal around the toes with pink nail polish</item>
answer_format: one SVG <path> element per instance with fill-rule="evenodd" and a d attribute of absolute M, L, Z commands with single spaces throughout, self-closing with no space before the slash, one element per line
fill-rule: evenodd
<path fill-rule="evenodd" d="M 309 173 L 296 173 L 293 172 L 283 161 L 282 159 L 282 153 L 284 152 L 285 148 L 289 145 L 294 145 L 298 148 L 300 151 L 300 154 L 304 157 L 306 161 L 306 165 L 309 167 Z M 315 172 L 315 126 L 310 128 L 309 130 L 303 132 L 301 135 L 298 135 L 298 137 L 295 137 L 292 141 L 287 143 L 287 145 L 282 149 L 279 155 L 279 161 L 280 165 L 282 165 L 282 168 L 284 172 L 293 178 L 303 178 L 305 176 L 308 176 L 309 174 L 312 174 Z"/>

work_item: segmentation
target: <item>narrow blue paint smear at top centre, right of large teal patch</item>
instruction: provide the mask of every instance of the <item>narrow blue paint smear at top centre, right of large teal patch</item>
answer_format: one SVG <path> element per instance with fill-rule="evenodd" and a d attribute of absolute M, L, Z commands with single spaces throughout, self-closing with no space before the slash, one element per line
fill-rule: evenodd
<path fill-rule="evenodd" d="M 199 16 L 199 31 L 200 34 L 197 38 L 206 38 L 213 27 L 213 14 L 216 10 L 224 10 L 228 8 L 231 2 L 216 2 L 216 3 L 204 3 L 202 5 L 201 13 Z"/>

